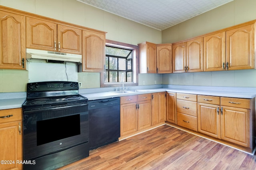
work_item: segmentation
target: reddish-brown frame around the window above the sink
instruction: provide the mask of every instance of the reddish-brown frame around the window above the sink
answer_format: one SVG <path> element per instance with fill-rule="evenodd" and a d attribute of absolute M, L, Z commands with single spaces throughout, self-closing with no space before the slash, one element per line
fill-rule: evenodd
<path fill-rule="evenodd" d="M 133 67 L 133 82 L 124 82 L 125 86 L 138 86 L 138 45 L 132 45 L 127 43 L 121 43 L 118 41 L 112 41 L 106 39 L 106 45 L 110 47 L 118 47 L 123 49 L 129 49 L 133 51 L 132 67 Z M 105 58 L 104 58 L 105 59 Z M 106 64 L 106 63 L 105 63 Z M 105 72 L 100 73 L 100 87 L 120 87 L 120 82 L 104 82 Z"/>

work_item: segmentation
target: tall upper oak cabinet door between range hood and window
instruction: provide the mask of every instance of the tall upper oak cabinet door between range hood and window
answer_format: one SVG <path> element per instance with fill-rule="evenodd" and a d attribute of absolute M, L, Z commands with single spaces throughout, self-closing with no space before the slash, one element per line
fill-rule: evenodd
<path fill-rule="evenodd" d="M 105 43 L 105 34 L 83 30 L 83 71 L 104 72 Z"/>

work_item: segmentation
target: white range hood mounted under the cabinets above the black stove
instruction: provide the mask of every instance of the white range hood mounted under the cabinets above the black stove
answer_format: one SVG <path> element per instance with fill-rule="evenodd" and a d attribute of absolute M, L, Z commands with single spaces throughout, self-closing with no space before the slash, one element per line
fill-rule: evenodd
<path fill-rule="evenodd" d="M 70 54 L 70 53 L 60 53 L 54 51 L 44 51 L 37 49 L 26 49 L 27 59 L 43 59 L 43 60 L 53 60 L 53 61 L 69 61 L 75 63 L 82 63 L 82 55 Z"/>

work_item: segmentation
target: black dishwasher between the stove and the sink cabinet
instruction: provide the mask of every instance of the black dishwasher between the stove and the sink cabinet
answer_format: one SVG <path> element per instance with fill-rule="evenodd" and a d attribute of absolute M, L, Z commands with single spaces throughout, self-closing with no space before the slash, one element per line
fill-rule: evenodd
<path fill-rule="evenodd" d="M 120 137 L 120 98 L 89 101 L 90 150 L 118 141 Z"/>

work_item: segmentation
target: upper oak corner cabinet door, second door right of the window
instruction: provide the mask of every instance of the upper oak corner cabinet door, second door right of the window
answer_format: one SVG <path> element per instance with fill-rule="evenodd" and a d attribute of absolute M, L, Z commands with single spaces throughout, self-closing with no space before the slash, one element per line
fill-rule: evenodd
<path fill-rule="evenodd" d="M 172 45 L 156 46 L 156 72 L 172 73 Z"/>

